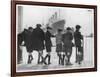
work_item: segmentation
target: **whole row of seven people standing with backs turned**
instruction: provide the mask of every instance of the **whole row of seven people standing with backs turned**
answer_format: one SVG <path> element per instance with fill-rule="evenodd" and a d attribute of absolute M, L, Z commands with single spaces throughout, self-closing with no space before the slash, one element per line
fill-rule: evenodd
<path fill-rule="evenodd" d="M 24 29 L 23 32 L 18 34 L 17 42 L 17 62 L 18 64 L 22 61 L 22 49 L 21 46 L 25 46 L 28 52 L 27 63 L 32 63 L 34 55 L 32 52 L 36 50 L 38 52 L 37 64 L 50 65 L 51 52 L 52 52 L 52 41 L 51 38 L 56 38 L 56 53 L 58 56 L 58 63 L 60 65 L 71 64 L 70 58 L 72 55 L 72 48 L 76 47 L 76 63 L 81 64 L 83 61 L 83 36 L 80 32 L 80 25 L 76 25 L 76 31 L 73 32 L 72 28 L 67 27 L 66 32 L 63 33 L 62 29 L 57 30 L 57 34 L 51 34 L 52 28 L 47 27 L 46 32 L 41 29 L 41 24 L 37 24 L 36 28 L 29 27 Z M 74 40 L 74 43 L 73 41 Z M 24 42 L 24 43 L 23 43 Z M 46 49 L 46 56 L 43 56 L 43 50 Z"/>

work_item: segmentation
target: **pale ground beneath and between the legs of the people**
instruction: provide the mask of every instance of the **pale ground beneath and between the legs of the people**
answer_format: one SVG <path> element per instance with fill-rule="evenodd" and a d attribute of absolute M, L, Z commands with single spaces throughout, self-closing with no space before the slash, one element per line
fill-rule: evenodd
<path fill-rule="evenodd" d="M 80 68 L 89 68 L 93 67 L 93 39 L 85 39 L 85 45 L 84 45 L 84 61 L 82 62 L 81 65 L 75 63 L 75 47 L 73 47 L 73 52 L 71 56 L 71 63 L 72 65 L 59 65 L 58 64 L 58 56 L 55 52 L 56 47 L 52 47 L 52 52 L 51 52 L 51 64 L 50 65 L 38 65 L 37 64 L 37 59 L 38 59 L 38 53 L 37 51 L 33 51 L 33 57 L 34 60 L 32 61 L 31 64 L 27 64 L 27 58 L 28 58 L 28 53 L 26 51 L 26 48 L 23 47 L 23 61 L 21 64 L 16 65 L 16 71 L 17 72 L 23 72 L 23 71 L 44 71 L 44 70 L 57 70 L 57 69 L 80 69 Z M 44 56 L 47 54 L 46 50 L 43 51 Z"/>

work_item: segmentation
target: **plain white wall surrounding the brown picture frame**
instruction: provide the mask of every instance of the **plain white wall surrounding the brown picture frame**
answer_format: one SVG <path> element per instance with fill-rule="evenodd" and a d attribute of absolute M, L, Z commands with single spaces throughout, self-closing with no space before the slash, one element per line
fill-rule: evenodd
<path fill-rule="evenodd" d="M 44 1 L 44 0 L 36 0 Z M 100 13 L 100 2 L 99 0 L 45 0 L 46 2 L 61 2 L 61 3 L 72 3 L 72 4 L 89 4 L 98 5 L 98 14 Z M 10 27 L 10 0 L 1 0 L 0 2 L 0 77 L 10 77 L 10 56 L 11 56 L 11 27 Z M 98 15 L 98 33 L 99 33 L 99 19 Z M 98 39 L 100 35 L 98 34 Z M 99 46 L 100 40 L 98 40 Z M 100 58 L 100 48 L 98 48 L 98 59 Z M 100 72 L 100 60 L 98 60 L 98 72 L 88 73 L 74 73 L 74 74 L 58 74 L 58 75 L 40 75 L 40 76 L 28 76 L 28 77 L 99 77 Z"/>

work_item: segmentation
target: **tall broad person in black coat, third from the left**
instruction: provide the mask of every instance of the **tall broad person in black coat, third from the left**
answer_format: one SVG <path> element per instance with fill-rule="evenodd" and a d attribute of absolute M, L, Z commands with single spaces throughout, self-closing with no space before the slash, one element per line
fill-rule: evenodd
<path fill-rule="evenodd" d="M 38 64 L 41 64 L 43 63 L 43 49 L 44 49 L 45 35 L 43 30 L 41 29 L 41 24 L 37 24 L 36 26 L 37 27 L 34 29 L 32 36 L 33 38 L 32 46 L 34 50 L 38 51 Z"/>

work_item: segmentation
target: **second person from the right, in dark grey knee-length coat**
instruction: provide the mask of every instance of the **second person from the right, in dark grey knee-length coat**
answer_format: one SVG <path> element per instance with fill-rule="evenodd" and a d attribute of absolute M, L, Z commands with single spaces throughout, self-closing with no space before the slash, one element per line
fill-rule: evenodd
<path fill-rule="evenodd" d="M 71 28 L 68 27 L 67 28 L 67 32 L 65 34 L 63 34 L 63 50 L 65 52 L 65 55 L 67 57 L 67 61 L 66 61 L 66 64 L 71 64 L 70 63 L 70 57 L 72 55 L 72 47 L 73 47 L 73 43 L 72 43 L 72 40 L 73 40 L 73 35 L 72 35 L 72 32 L 71 32 Z"/>

